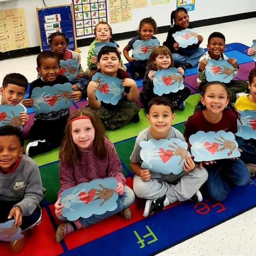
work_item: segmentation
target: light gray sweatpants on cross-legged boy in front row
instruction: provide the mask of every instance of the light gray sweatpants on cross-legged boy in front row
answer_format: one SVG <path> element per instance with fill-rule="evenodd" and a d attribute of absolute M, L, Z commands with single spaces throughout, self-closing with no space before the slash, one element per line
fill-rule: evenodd
<path fill-rule="evenodd" d="M 195 169 L 190 172 L 183 171 L 179 175 L 169 174 L 164 176 L 168 177 L 168 181 L 166 178 L 165 181 L 159 178 L 144 181 L 140 176 L 134 175 L 134 193 L 139 198 L 153 200 L 166 195 L 171 204 L 176 201 L 186 201 L 195 195 L 205 183 L 208 173 L 206 169 L 195 166 Z"/>

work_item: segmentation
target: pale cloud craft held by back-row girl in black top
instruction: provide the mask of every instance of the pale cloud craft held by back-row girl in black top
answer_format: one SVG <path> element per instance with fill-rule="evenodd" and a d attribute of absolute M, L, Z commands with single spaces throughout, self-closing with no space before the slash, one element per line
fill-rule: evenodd
<path fill-rule="evenodd" d="M 198 33 L 194 29 L 183 29 L 172 35 L 179 47 L 186 48 L 198 43 Z"/>

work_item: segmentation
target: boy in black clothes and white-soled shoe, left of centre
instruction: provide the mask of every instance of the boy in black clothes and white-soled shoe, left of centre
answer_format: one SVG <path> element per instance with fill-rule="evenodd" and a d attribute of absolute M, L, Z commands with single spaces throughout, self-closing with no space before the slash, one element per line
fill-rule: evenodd
<path fill-rule="evenodd" d="M 31 99 L 32 90 L 35 87 L 53 86 L 55 84 L 68 83 L 66 76 L 59 75 L 59 59 L 55 52 L 44 51 L 38 54 L 37 71 L 40 78 L 33 81 L 30 85 L 28 99 L 23 100 L 26 107 L 32 107 L 34 100 Z M 81 91 L 74 91 L 70 99 L 81 99 Z M 49 113 L 39 113 L 34 116 L 34 124 L 29 130 L 32 142 L 26 147 L 26 154 L 30 157 L 45 153 L 52 148 L 58 147 L 64 137 L 64 127 L 69 116 L 69 109 L 51 111 Z"/>

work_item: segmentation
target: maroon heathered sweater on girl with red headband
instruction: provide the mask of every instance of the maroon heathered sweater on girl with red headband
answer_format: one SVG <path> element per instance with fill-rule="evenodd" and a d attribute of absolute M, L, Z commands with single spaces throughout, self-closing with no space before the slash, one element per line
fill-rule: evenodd
<path fill-rule="evenodd" d="M 116 182 L 125 184 L 125 177 L 122 174 L 122 164 L 116 153 L 116 149 L 107 138 L 105 139 L 108 155 L 105 159 L 96 157 L 94 148 L 81 149 L 81 162 L 70 168 L 64 160 L 60 162 L 59 176 L 61 188 L 58 197 L 65 189 L 72 188 L 83 182 L 90 182 L 95 179 L 114 177 Z"/>

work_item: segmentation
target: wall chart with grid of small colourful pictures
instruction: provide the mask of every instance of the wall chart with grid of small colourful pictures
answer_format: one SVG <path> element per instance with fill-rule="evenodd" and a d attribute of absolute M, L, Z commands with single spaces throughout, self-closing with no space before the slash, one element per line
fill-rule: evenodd
<path fill-rule="evenodd" d="M 73 0 L 76 36 L 93 35 L 100 21 L 108 22 L 106 0 Z"/>

